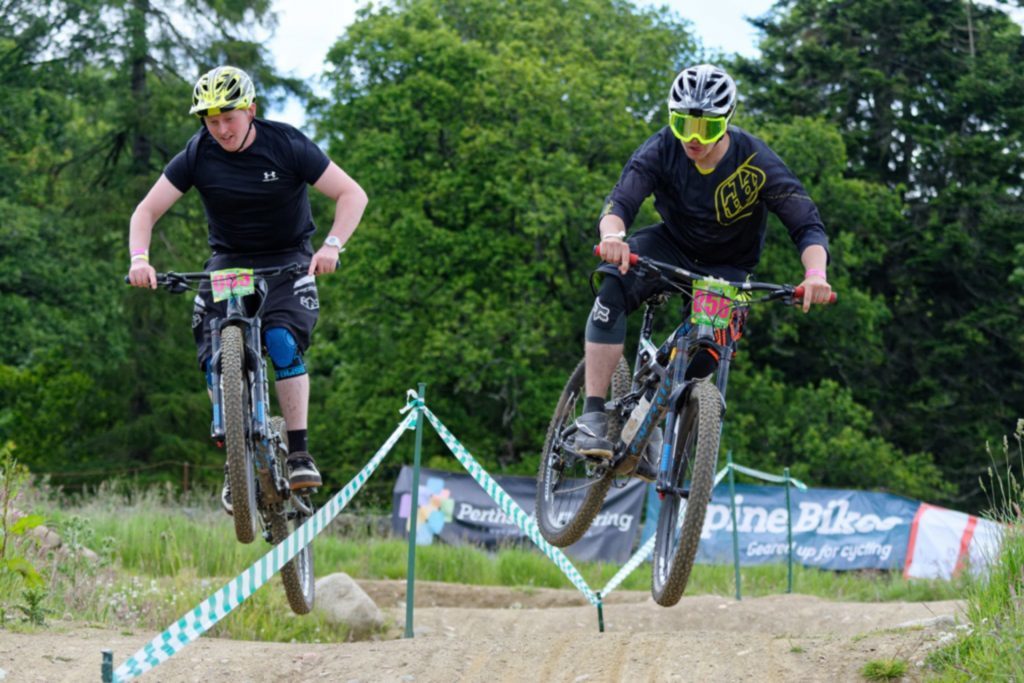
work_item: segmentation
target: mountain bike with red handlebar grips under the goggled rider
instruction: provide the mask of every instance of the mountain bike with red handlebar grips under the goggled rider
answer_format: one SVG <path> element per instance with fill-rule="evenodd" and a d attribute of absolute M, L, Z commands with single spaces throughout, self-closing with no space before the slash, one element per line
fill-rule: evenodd
<path fill-rule="evenodd" d="M 664 424 L 654 482 L 662 506 L 651 594 L 658 604 L 671 606 L 686 589 L 700 541 L 718 463 L 729 365 L 749 307 L 768 301 L 797 304 L 804 293 L 792 285 L 719 280 L 637 254 L 631 254 L 630 263 L 638 275 L 657 278 L 670 291 L 644 302 L 632 375 L 624 358 L 612 375 L 605 411 L 614 453 L 600 459 L 573 447 L 585 397 L 586 366 L 581 361 L 548 427 L 538 470 L 537 523 L 552 545 L 579 541 L 612 483 L 636 475 L 655 428 Z M 676 293 L 689 299 L 691 314 L 657 346 L 651 340 L 654 313 Z M 701 352 L 717 358 L 717 369 L 709 377 L 687 378 L 691 360 Z"/>

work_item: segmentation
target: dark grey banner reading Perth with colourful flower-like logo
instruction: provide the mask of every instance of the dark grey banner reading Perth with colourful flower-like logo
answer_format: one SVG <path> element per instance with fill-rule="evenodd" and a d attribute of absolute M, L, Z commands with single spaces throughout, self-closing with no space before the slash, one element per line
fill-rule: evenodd
<path fill-rule="evenodd" d="M 524 512 L 534 514 L 535 477 L 494 478 Z M 395 481 L 391 506 L 391 528 L 407 538 L 412 487 L 413 468 L 407 465 Z M 640 529 L 644 490 L 638 479 L 630 479 L 622 488 L 612 486 L 590 529 L 565 548 L 565 553 L 582 561 L 625 562 Z M 430 545 L 437 539 L 451 545 L 472 543 L 488 550 L 520 544 L 532 547 L 522 529 L 468 474 L 421 468 L 418 503 L 417 545 Z"/>

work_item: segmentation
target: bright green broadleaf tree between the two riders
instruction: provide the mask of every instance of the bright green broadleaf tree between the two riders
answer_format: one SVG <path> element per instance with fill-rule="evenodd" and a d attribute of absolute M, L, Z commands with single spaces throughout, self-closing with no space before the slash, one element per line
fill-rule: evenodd
<path fill-rule="evenodd" d="M 371 198 L 324 284 L 329 453 L 368 454 L 422 380 L 484 461 L 534 467 L 520 463 L 582 353 L 601 198 L 692 54 L 664 12 L 611 0 L 359 14 L 317 119 Z"/>

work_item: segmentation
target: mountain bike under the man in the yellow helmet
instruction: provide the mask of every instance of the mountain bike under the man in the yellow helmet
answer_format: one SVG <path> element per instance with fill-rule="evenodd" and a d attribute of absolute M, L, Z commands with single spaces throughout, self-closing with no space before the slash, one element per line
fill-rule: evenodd
<path fill-rule="evenodd" d="M 207 321 L 212 347 L 210 436 L 226 451 L 234 536 L 241 543 L 252 543 L 260 531 L 276 545 L 313 515 L 313 492 L 293 492 L 289 486 L 288 430 L 284 418 L 270 416 L 261 336 L 266 279 L 305 269 L 292 263 L 157 273 L 157 285 L 171 293 L 198 291 L 209 283 L 214 301 L 226 301 L 225 316 Z M 298 614 L 308 613 L 313 606 L 312 553 L 312 547 L 306 546 L 281 569 L 288 603 Z"/>

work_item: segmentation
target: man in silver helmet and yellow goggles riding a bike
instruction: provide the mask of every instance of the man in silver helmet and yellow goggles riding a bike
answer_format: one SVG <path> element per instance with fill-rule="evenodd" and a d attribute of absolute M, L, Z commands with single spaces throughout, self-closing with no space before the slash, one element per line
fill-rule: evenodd
<path fill-rule="evenodd" d="M 626 340 L 626 316 L 666 286 L 630 271 L 637 253 L 688 270 L 730 281 L 745 280 L 764 248 L 768 211 L 781 219 L 800 252 L 805 273 L 803 308 L 828 301 L 828 239 L 817 207 L 800 181 L 767 144 L 729 124 L 736 84 L 722 69 L 684 69 L 669 91 L 669 125 L 647 139 L 626 164 L 601 213 L 604 274 L 587 321 L 584 414 L 577 420 L 575 450 L 610 458 L 605 395 Z M 627 237 L 650 195 L 660 223 Z M 717 358 L 701 352 L 687 379 L 710 376 Z M 655 437 L 652 436 L 652 441 Z M 636 474 L 653 480 L 648 449 Z"/>

